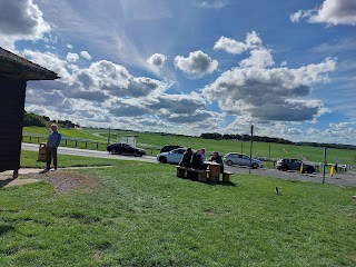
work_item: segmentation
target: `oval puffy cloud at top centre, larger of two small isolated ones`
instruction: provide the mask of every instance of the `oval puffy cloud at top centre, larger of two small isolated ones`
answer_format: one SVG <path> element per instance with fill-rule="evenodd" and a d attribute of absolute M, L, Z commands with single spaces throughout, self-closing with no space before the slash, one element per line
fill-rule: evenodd
<path fill-rule="evenodd" d="M 188 75 L 201 77 L 206 73 L 212 73 L 218 67 L 218 61 L 198 50 L 190 52 L 188 58 L 177 56 L 175 67 Z"/>

